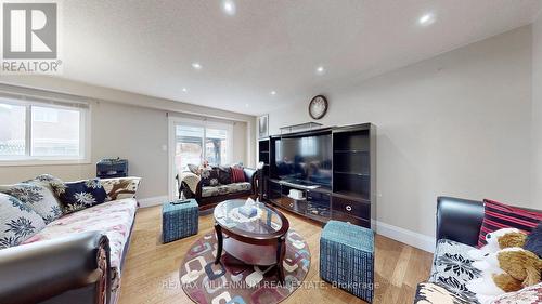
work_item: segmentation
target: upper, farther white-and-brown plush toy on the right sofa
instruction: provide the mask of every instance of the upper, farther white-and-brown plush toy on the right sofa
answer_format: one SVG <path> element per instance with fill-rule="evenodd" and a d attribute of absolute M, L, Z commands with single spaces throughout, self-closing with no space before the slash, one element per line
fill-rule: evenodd
<path fill-rule="evenodd" d="M 491 253 L 511 247 L 522 248 L 527 235 L 516 228 L 503 228 L 486 235 L 487 244 L 480 249 L 468 251 L 468 256 L 474 261 L 483 260 Z"/>

